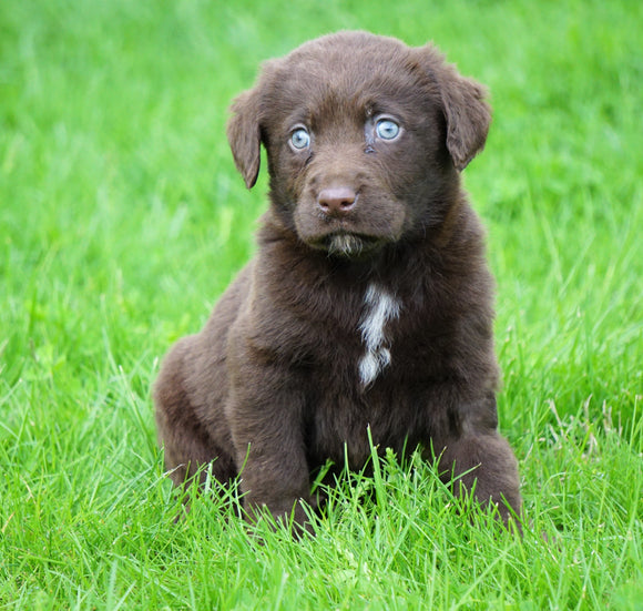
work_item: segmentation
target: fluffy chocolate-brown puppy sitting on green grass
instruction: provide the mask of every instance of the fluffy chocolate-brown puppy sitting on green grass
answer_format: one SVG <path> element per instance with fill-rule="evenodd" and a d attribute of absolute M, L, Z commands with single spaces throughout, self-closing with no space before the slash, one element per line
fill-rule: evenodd
<path fill-rule="evenodd" d="M 304 525 L 312 473 L 345 448 L 361 468 L 370 428 L 382 449 L 421 445 L 504 519 L 520 511 L 492 278 L 459 175 L 484 145 L 483 96 L 430 45 L 341 32 L 269 61 L 234 102 L 236 165 L 252 187 L 264 144 L 272 205 L 257 256 L 156 381 L 175 483 L 241 470 L 249 515 Z"/>

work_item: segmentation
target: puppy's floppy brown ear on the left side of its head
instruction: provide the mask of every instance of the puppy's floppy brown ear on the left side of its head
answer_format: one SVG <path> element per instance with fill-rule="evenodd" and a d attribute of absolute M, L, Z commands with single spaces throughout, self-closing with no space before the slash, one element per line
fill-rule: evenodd
<path fill-rule="evenodd" d="M 259 174 L 262 134 L 258 98 L 256 88 L 236 98 L 226 130 L 234 163 L 248 189 L 254 186 Z"/>

